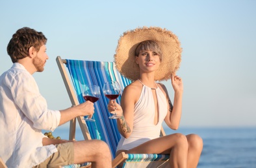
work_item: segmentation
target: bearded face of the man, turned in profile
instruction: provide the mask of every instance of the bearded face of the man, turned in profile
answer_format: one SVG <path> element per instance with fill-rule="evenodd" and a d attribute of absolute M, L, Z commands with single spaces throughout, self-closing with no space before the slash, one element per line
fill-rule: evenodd
<path fill-rule="evenodd" d="M 40 50 L 37 52 L 36 57 L 34 57 L 32 63 L 34 67 L 36 67 L 37 72 L 43 72 L 44 71 L 44 65 L 46 63 L 46 59 L 49 57 L 46 54 L 46 47 L 45 45 L 42 45 L 40 47 Z"/>

